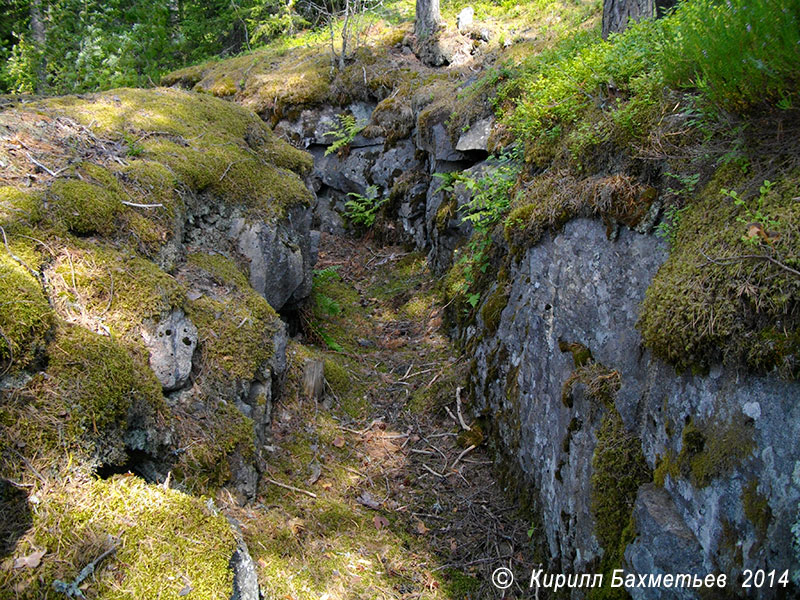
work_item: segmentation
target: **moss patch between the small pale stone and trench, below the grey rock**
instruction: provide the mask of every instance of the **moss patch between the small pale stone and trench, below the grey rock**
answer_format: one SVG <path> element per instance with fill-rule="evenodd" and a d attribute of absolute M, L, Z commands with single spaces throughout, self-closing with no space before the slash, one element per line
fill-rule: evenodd
<path fill-rule="evenodd" d="M 225 295 L 201 296 L 186 309 L 198 330 L 205 374 L 252 379 L 272 357 L 272 337 L 280 318 L 230 259 L 200 254 L 190 255 L 189 262 L 228 286 Z"/>

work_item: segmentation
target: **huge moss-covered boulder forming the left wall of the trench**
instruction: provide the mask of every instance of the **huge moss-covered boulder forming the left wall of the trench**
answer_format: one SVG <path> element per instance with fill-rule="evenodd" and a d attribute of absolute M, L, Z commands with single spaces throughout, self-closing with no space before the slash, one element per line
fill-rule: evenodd
<path fill-rule="evenodd" d="M 276 309 L 310 289 L 311 157 L 177 89 L 19 104 L 0 124 L 0 477 L 171 471 L 252 497 L 286 370 Z M 180 368 L 159 335 L 185 345 Z"/>

